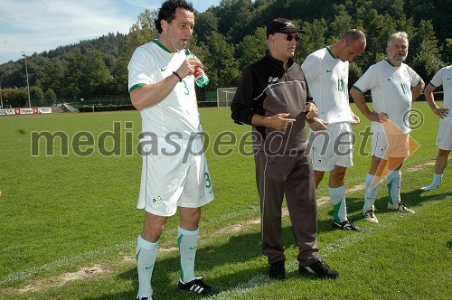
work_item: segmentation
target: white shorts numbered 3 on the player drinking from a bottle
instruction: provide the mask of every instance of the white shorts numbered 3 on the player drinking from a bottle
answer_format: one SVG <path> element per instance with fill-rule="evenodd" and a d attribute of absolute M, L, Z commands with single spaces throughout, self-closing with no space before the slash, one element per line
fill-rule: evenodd
<path fill-rule="evenodd" d="M 152 145 L 152 151 L 151 145 L 143 147 L 149 153 L 143 155 L 137 208 L 169 217 L 177 206 L 197 208 L 212 202 L 212 181 L 202 139 L 168 142 L 158 138 L 157 144 Z"/>

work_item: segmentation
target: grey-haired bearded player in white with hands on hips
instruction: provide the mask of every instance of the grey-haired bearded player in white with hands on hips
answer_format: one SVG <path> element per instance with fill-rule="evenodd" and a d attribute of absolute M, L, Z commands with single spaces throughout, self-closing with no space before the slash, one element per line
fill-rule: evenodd
<path fill-rule="evenodd" d="M 363 217 L 378 223 L 374 203 L 381 174 L 388 164 L 386 184 L 389 190 L 388 209 L 414 213 L 400 202 L 400 168 L 410 155 L 410 109 L 424 89 L 420 76 L 403 63 L 408 56 L 408 34 L 393 33 L 386 45 L 387 58 L 373 64 L 356 81 L 350 93 L 363 115 L 372 121 L 372 163 L 366 176 Z M 371 90 L 373 111 L 364 99 Z"/>

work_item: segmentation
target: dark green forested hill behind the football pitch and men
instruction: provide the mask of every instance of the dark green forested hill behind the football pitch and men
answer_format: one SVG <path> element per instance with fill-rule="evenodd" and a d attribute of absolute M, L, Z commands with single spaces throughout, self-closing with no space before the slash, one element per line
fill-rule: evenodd
<path fill-rule="evenodd" d="M 28 57 L 32 98 L 49 90 L 59 98 L 127 95 L 127 62 L 138 45 L 157 36 L 155 14 L 139 14 L 128 34 L 108 33 Z M 452 0 L 222 0 L 196 14 L 190 49 L 202 59 L 211 80 L 208 89 L 234 87 L 241 70 L 265 52 L 265 25 L 278 16 L 306 30 L 297 45 L 299 63 L 348 29 L 360 28 L 368 44 L 351 64 L 353 83 L 385 57 L 389 35 L 405 31 L 410 36 L 407 63 L 428 81 L 452 62 L 451 15 Z M 24 59 L 0 65 L 2 89 L 19 88 L 19 102 L 26 86 L 24 69 Z"/>

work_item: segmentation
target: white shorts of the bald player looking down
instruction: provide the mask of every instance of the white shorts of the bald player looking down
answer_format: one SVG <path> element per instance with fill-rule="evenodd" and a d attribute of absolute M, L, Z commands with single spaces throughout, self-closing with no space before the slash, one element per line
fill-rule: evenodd
<path fill-rule="evenodd" d="M 353 165 L 353 136 L 350 122 L 330 124 L 326 130 L 310 131 L 309 142 L 315 171 L 331 172 L 336 165 Z"/>

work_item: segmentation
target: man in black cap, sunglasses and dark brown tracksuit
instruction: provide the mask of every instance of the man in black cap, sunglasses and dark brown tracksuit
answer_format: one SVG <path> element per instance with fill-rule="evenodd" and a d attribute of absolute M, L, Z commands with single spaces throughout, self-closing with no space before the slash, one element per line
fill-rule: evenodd
<path fill-rule="evenodd" d="M 338 273 L 318 255 L 315 183 L 306 150 L 306 119 L 313 130 L 325 129 L 325 123 L 315 118 L 305 74 L 292 59 L 297 33 L 303 31 L 287 19 L 268 23 L 268 51 L 243 71 L 231 104 L 232 118 L 253 127 L 262 250 L 270 264 L 269 277 L 286 277 L 281 229 L 286 195 L 299 247 L 298 273 L 335 278 Z"/>

